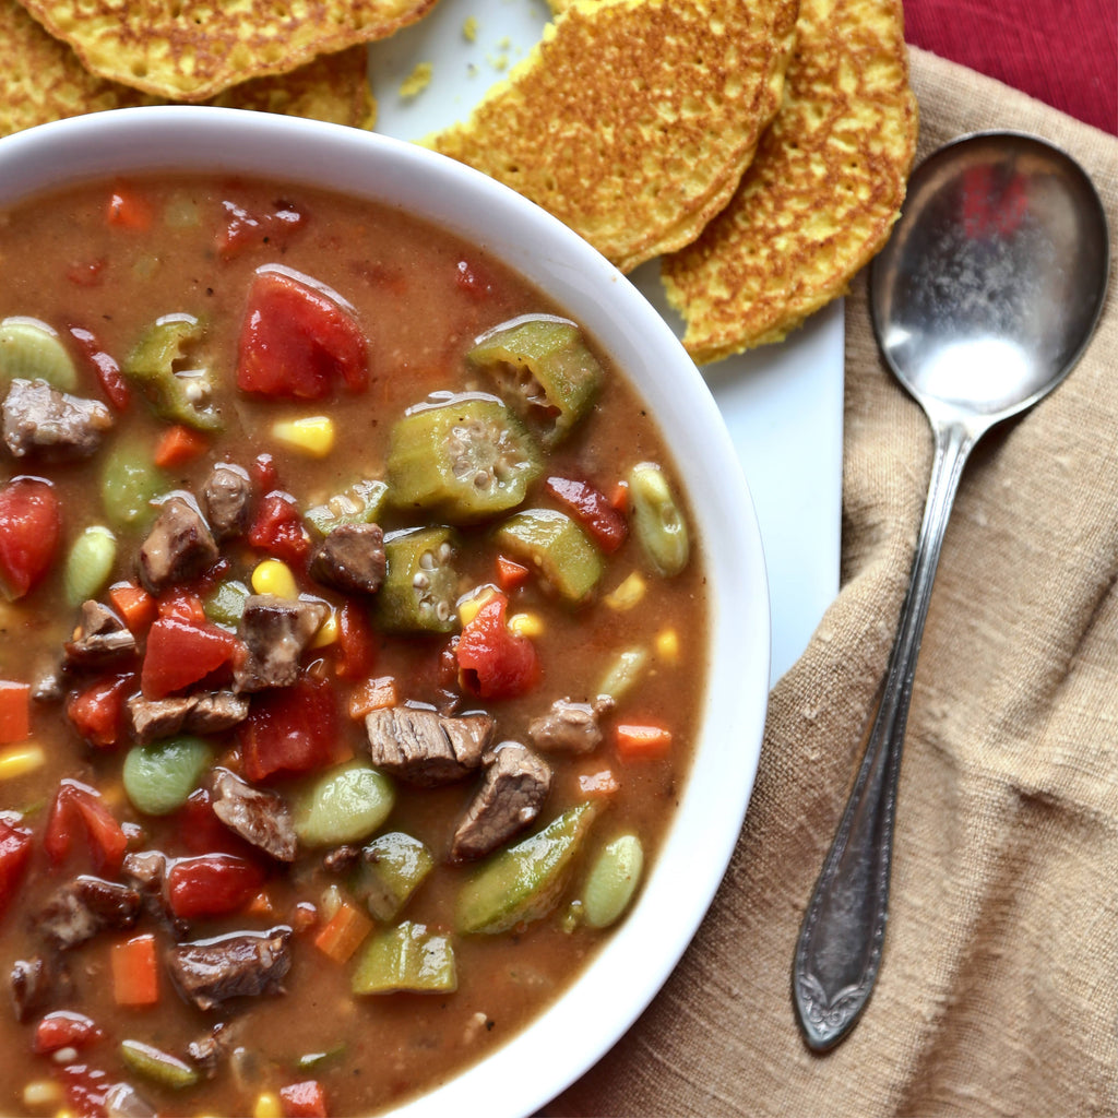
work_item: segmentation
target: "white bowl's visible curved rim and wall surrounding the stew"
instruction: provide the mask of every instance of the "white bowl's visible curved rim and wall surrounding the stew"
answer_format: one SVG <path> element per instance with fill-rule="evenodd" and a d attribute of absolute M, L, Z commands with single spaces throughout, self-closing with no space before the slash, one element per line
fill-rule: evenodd
<path fill-rule="evenodd" d="M 125 108 L 0 140 L 0 206 L 95 177 L 221 170 L 332 188 L 418 215 L 547 292 L 659 418 L 694 512 L 711 595 L 694 766 L 636 904 L 550 1010 L 394 1118 L 530 1115 L 616 1043 L 666 980 L 726 872 L 752 790 L 768 698 L 768 588 L 741 467 L 705 383 L 632 284 L 539 207 L 424 149 L 341 125 L 195 106 Z"/>

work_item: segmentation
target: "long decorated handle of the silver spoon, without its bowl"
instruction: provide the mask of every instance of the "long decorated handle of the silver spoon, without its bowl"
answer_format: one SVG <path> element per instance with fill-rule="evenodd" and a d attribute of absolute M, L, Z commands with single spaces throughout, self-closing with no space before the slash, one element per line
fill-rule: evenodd
<path fill-rule="evenodd" d="M 960 423 L 936 425 L 923 523 L 881 705 L 796 945 L 793 993 L 807 1044 L 816 1051 L 837 1044 L 854 1025 L 881 963 L 897 778 L 912 676 L 947 519 L 977 434 Z"/>

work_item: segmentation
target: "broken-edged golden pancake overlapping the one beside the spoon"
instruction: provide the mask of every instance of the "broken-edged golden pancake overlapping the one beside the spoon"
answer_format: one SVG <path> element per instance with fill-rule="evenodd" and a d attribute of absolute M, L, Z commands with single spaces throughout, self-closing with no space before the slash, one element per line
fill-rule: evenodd
<path fill-rule="evenodd" d="M 780 103 L 796 0 L 569 0 L 428 145 L 525 195 L 623 271 L 729 201 Z"/>

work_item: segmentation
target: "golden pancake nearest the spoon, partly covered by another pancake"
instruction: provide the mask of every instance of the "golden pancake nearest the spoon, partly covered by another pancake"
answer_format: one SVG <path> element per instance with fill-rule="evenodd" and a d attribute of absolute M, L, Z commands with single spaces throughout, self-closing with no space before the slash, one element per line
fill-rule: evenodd
<path fill-rule="evenodd" d="M 916 138 L 900 0 L 802 0 L 757 157 L 727 209 L 662 264 L 695 361 L 779 341 L 846 291 L 900 212 Z"/>

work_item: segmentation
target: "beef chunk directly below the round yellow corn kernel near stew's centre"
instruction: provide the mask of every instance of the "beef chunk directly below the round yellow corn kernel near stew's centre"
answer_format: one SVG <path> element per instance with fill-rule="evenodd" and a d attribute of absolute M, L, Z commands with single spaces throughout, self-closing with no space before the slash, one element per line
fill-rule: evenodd
<path fill-rule="evenodd" d="M 240 637 L 247 655 L 234 670 L 237 691 L 291 686 L 299 678 L 300 656 L 326 613 L 321 601 L 291 601 L 274 594 L 249 595 L 240 618 Z"/>

